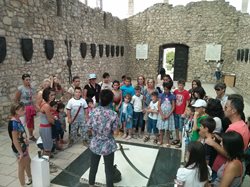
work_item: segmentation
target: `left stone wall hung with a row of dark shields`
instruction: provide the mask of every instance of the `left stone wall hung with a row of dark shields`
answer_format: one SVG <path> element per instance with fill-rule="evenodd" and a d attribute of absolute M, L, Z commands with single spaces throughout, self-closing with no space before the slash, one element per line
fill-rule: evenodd
<path fill-rule="evenodd" d="M 30 73 L 32 84 L 38 87 L 44 78 L 56 74 L 68 87 L 67 52 L 64 40 L 72 40 L 72 75 L 79 75 L 82 84 L 87 82 L 87 74 L 97 73 L 99 80 L 105 71 L 112 78 L 120 78 L 127 69 L 125 63 L 126 24 L 99 9 L 91 9 L 76 1 L 56 0 L 0 0 L 0 36 L 7 42 L 7 56 L 0 64 L 0 114 L 5 119 L 9 113 L 17 86 L 22 84 L 23 73 Z M 61 16 L 58 15 L 58 8 Z M 59 12 L 60 14 L 60 12 Z M 105 14 L 105 15 L 104 15 Z M 20 38 L 32 38 L 34 53 L 32 60 L 25 62 L 21 54 Z M 48 61 L 44 53 L 44 39 L 54 41 L 54 57 Z M 86 42 L 87 56 L 81 57 L 80 42 Z M 97 47 L 96 57 L 90 55 L 90 44 L 112 44 L 125 46 L 123 57 L 102 58 Z M 115 68 L 119 67 L 119 68 Z"/>

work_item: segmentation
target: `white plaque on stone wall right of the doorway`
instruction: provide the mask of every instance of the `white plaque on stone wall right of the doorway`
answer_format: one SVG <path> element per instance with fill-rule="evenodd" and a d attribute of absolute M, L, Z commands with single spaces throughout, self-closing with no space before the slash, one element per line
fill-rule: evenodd
<path fill-rule="evenodd" d="M 206 61 L 219 61 L 221 60 L 221 45 L 207 44 L 206 45 Z"/>

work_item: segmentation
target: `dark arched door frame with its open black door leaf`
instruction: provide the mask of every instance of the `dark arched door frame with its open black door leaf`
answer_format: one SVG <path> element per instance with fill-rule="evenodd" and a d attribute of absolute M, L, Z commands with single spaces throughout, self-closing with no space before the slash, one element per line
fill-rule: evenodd
<path fill-rule="evenodd" d="M 161 45 L 159 47 L 158 70 L 160 70 L 160 68 L 163 67 L 163 55 L 164 55 L 164 49 L 166 48 L 175 48 L 173 80 L 174 81 L 178 81 L 180 79 L 187 80 L 189 47 L 185 44 L 176 44 L 176 43 Z"/>

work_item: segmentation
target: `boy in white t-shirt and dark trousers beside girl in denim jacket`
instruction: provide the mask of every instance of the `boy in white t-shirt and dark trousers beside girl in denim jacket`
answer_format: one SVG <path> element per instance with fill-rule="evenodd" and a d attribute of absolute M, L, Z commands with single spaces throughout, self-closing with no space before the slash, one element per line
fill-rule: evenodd
<path fill-rule="evenodd" d="M 136 138 L 135 131 L 138 129 L 138 138 L 142 138 L 141 129 L 143 125 L 143 95 L 141 94 L 141 87 L 135 87 L 135 95 L 132 97 L 131 103 L 134 108 L 133 112 L 133 137 Z"/>

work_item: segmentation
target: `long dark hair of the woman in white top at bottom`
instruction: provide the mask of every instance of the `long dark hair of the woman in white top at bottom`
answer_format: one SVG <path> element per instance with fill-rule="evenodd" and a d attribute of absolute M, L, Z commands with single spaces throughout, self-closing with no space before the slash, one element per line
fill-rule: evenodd
<path fill-rule="evenodd" d="M 188 144 L 189 158 L 185 167 L 198 168 L 198 177 L 201 182 L 208 180 L 208 167 L 206 163 L 206 152 L 201 142 L 194 141 Z"/>

